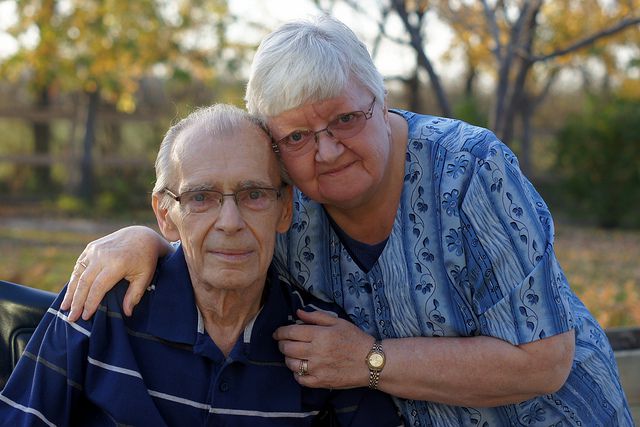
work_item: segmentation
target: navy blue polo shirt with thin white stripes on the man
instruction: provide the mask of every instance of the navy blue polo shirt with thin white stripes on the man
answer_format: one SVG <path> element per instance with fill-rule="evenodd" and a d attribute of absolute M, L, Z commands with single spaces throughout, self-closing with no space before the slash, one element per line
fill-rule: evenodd
<path fill-rule="evenodd" d="M 264 305 L 228 357 L 206 334 L 182 248 L 160 263 L 132 317 L 119 283 L 89 321 L 67 321 L 61 293 L 0 393 L 0 425 L 396 426 L 391 399 L 366 388 L 301 387 L 272 333 L 295 310 L 339 308 L 269 271 Z M 364 361 L 363 361 L 364 363 Z"/>

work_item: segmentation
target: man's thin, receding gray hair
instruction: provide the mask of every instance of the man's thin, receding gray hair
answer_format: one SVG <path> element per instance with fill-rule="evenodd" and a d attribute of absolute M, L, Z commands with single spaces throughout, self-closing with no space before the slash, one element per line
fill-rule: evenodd
<path fill-rule="evenodd" d="M 156 157 L 156 183 L 153 187 L 153 194 L 160 196 L 160 207 L 167 208 L 170 198 L 164 194 L 166 188 L 171 188 L 177 184 L 176 177 L 176 141 L 186 131 L 197 131 L 198 137 L 207 139 L 218 139 L 233 134 L 234 131 L 245 128 L 246 126 L 254 127 L 258 132 L 263 132 L 266 136 L 265 141 L 256 141 L 256 144 L 268 144 L 271 137 L 264 125 L 264 122 L 254 115 L 246 111 L 227 104 L 214 104 L 208 107 L 198 108 L 175 125 L 171 126 L 167 131 L 160 149 Z M 266 159 L 265 159 L 266 161 Z M 280 159 L 280 177 L 286 184 L 291 184 L 286 170 Z"/>

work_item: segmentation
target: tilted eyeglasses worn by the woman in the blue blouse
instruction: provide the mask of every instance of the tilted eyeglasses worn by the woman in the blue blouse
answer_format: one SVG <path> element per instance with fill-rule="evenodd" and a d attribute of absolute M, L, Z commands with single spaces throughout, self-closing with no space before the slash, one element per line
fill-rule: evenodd
<path fill-rule="evenodd" d="M 364 129 L 367 120 L 373 116 L 373 107 L 376 104 L 376 98 L 373 97 L 369 110 L 352 111 L 350 113 L 340 114 L 334 120 L 327 124 L 327 127 L 318 131 L 297 130 L 275 142 L 273 148 L 276 152 L 282 151 L 292 156 L 302 156 L 307 154 L 313 148 L 311 141 L 318 143 L 318 134 L 327 132 L 330 137 L 335 139 L 347 139 L 356 136 Z"/>

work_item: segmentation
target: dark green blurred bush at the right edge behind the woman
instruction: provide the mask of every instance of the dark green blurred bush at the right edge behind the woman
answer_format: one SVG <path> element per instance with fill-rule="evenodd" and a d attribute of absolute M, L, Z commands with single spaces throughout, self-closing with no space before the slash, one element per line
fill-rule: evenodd
<path fill-rule="evenodd" d="M 590 97 L 558 133 L 571 213 L 605 228 L 640 226 L 640 100 Z"/>

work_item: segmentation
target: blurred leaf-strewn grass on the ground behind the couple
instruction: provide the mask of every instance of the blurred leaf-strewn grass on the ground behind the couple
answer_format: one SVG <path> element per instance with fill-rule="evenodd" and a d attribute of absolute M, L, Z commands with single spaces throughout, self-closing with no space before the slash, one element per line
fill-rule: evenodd
<path fill-rule="evenodd" d="M 75 222 L 74 222 L 75 221 Z M 85 245 L 126 224 L 0 222 L 0 279 L 59 291 Z M 640 325 L 640 232 L 560 224 L 556 253 L 572 288 L 604 327 Z"/>

